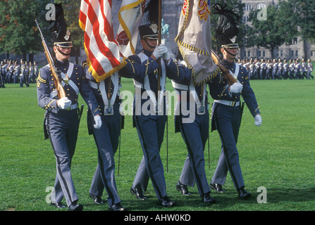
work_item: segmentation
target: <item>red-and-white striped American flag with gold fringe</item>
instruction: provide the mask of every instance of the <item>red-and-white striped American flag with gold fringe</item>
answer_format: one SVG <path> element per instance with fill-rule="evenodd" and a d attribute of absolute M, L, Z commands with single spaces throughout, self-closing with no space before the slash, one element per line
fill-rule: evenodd
<path fill-rule="evenodd" d="M 101 82 L 125 66 L 113 34 L 111 0 L 81 0 L 79 24 L 85 31 L 89 72 Z"/>

